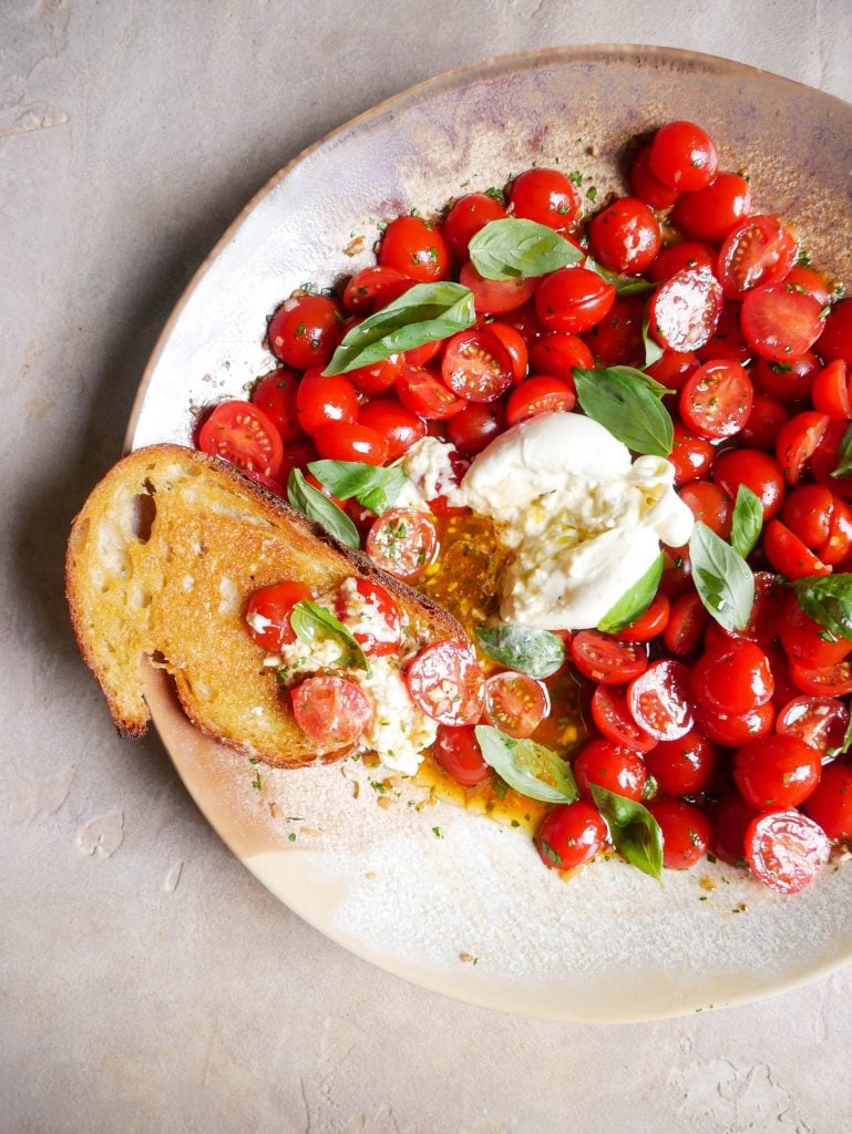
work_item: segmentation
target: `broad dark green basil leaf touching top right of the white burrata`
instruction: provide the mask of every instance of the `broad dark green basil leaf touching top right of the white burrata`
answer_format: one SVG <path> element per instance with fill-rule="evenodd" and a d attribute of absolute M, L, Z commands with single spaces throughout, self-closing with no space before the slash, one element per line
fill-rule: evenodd
<path fill-rule="evenodd" d="M 630 366 L 581 370 L 574 366 L 574 386 L 583 412 L 634 452 L 667 457 L 674 446 L 668 411 L 646 381 Z M 659 383 L 655 383 L 659 384 Z"/>

